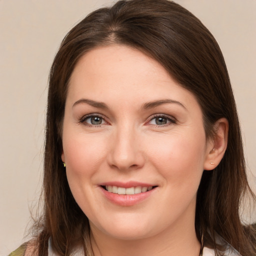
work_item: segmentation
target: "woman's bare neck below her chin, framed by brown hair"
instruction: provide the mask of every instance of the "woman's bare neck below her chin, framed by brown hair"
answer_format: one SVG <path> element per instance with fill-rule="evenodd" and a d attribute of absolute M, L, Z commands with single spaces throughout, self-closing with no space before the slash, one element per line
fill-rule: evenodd
<path fill-rule="evenodd" d="M 107 235 L 91 225 L 91 245 L 94 256 L 198 256 L 200 251 L 194 217 L 190 221 L 177 221 L 155 235 L 134 240 Z"/>

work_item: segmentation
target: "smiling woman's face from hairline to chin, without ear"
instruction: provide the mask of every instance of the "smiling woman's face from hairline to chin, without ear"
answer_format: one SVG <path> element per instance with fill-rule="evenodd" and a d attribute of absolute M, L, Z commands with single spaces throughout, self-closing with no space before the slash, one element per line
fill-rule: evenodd
<path fill-rule="evenodd" d="M 123 46 L 83 55 L 70 78 L 62 160 L 94 232 L 135 239 L 194 225 L 210 145 L 195 97 Z"/>

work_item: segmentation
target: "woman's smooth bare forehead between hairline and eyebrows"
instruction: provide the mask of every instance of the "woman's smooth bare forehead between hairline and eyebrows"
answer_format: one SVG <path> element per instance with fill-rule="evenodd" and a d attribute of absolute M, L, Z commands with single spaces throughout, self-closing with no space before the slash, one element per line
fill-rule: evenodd
<path fill-rule="evenodd" d="M 156 60 L 119 44 L 96 47 L 77 62 L 69 80 L 67 99 L 78 97 L 122 103 L 162 98 L 195 100 Z"/>

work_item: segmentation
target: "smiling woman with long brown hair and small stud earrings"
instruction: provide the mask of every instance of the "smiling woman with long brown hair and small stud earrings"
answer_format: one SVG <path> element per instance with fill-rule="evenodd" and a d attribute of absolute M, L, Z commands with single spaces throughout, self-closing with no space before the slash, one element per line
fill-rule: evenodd
<path fill-rule="evenodd" d="M 43 187 L 25 255 L 256 255 L 228 73 L 196 17 L 118 1 L 70 30 L 50 71 Z"/>

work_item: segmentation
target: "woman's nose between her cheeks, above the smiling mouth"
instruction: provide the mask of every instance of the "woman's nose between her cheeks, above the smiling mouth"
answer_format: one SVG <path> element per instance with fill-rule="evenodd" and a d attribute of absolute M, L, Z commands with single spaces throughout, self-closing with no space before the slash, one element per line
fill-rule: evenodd
<path fill-rule="evenodd" d="M 107 161 L 119 170 L 138 169 L 144 165 L 143 148 L 134 128 L 122 127 L 112 134 Z"/>

